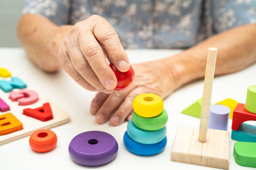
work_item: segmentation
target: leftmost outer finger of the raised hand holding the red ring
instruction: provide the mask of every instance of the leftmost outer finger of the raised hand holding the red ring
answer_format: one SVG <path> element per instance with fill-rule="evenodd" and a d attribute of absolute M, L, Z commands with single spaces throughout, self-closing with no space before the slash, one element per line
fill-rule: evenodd
<path fill-rule="evenodd" d="M 65 56 L 61 58 L 61 66 L 70 75 L 70 77 L 73 78 L 73 80 L 75 80 L 79 85 L 81 85 L 81 87 L 90 91 L 96 90 L 94 87 L 92 87 L 92 85 L 90 85 L 90 83 L 84 80 L 84 78 L 76 71 L 76 69 L 74 69 L 68 55 L 65 54 Z"/>

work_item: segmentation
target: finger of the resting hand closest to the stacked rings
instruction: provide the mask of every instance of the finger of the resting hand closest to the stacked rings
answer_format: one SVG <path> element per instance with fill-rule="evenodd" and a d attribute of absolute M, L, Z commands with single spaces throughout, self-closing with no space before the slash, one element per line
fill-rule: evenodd
<path fill-rule="evenodd" d="M 110 119 L 111 125 L 120 125 L 124 122 L 125 118 L 131 113 L 132 111 L 132 102 L 136 96 L 139 94 L 143 94 L 144 90 L 143 87 L 138 87 L 137 89 L 132 90 L 127 97 L 125 97 L 124 102 L 121 106 L 116 110 L 116 113 Z"/>

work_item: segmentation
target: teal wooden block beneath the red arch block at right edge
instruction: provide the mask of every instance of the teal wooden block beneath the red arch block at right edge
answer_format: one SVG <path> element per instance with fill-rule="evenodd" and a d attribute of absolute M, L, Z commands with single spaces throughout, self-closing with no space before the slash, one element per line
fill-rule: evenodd
<path fill-rule="evenodd" d="M 237 131 L 232 131 L 231 139 L 244 142 L 256 143 L 256 127 L 249 124 L 241 124 Z"/>

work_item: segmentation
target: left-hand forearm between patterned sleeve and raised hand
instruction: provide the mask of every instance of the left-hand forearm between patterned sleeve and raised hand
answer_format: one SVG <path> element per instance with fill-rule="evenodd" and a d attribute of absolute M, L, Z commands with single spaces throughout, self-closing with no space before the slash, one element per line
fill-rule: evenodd
<path fill-rule="evenodd" d="M 17 34 L 28 57 L 40 69 L 54 72 L 60 69 L 57 59 L 61 39 L 70 25 L 58 27 L 40 15 L 23 15 L 17 29 Z"/>

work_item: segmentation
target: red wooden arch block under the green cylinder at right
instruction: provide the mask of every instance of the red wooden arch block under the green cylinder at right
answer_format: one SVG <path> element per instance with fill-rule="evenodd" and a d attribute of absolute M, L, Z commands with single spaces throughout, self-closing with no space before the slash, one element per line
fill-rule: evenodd
<path fill-rule="evenodd" d="M 244 104 L 238 103 L 233 115 L 232 130 L 237 131 L 243 122 L 248 120 L 256 121 L 256 114 L 244 109 Z"/>

